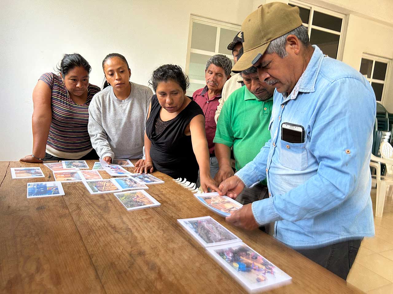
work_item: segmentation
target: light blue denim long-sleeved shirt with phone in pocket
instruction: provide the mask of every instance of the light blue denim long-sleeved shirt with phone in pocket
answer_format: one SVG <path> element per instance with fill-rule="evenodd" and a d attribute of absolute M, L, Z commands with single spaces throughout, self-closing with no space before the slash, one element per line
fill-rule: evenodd
<path fill-rule="evenodd" d="M 358 71 L 313 47 L 290 95 L 274 92 L 272 139 L 236 173 L 247 187 L 267 178 L 270 198 L 253 202 L 253 215 L 275 221 L 274 237 L 294 248 L 374 235 L 375 94 Z M 302 125 L 305 142 L 281 140 L 284 122 Z"/>

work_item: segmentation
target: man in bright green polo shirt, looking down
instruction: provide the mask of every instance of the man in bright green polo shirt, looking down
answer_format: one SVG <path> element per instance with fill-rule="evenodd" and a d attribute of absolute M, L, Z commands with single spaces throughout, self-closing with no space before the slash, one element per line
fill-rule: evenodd
<path fill-rule="evenodd" d="M 260 82 L 255 67 L 241 72 L 244 86 L 234 91 L 222 107 L 213 142 L 219 171 L 217 183 L 233 176 L 231 147 L 237 171 L 252 161 L 270 139 L 268 130 L 272 115 L 274 87 Z M 236 198 L 242 204 L 266 198 L 266 180 L 244 191 Z"/>

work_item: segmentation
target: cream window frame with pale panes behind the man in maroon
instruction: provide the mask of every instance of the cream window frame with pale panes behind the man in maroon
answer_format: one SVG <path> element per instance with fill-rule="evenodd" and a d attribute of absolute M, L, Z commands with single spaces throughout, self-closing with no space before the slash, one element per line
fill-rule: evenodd
<path fill-rule="evenodd" d="M 198 22 L 200 24 L 206 24 L 206 25 L 211 25 L 211 26 L 217 27 L 216 47 L 215 47 L 214 52 L 191 48 L 191 36 L 192 36 L 192 30 L 193 30 L 193 23 L 194 22 Z M 190 16 L 190 27 L 189 27 L 189 31 L 188 31 L 187 59 L 186 59 L 186 62 L 185 62 L 185 73 L 186 74 L 189 73 L 191 53 L 203 54 L 203 55 L 208 55 L 208 56 L 213 56 L 215 54 L 222 54 L 222 53 L 219 53 L 219 40 L 220 40 L 220 30 L 221 30 L 221 28 L 223 28 L 223 29 L 231 29 L 231 30 L 234 30 L 234 31 L 240 31 L 241 30 L 241 25 L 230 23 L 230 22 L 223 22 L 221 20 L 215 20 L 213 18 L 207 18 L 207 17 L 203 17 L 203 16 L 200 16 L 200 15 L 193 15 L 193 14 L 191 14 L 191 16 Z M 231 60 L 233 60 L 232 54 L 224 54 L 224 55 L 227 56 L 228 58 L 230 58 Z M 190 79 L 190 83 L 206 85 L 206 81 L 205 80 Z"/>

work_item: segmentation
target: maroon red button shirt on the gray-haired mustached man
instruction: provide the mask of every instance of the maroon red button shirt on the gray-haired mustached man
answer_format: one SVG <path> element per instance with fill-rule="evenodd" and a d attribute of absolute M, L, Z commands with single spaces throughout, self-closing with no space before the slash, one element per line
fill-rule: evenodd
<path fill-rule="evenodd" d="M 214 143 L 213 139 L 216 134 L 216 122 L 214 120 L 214 115 L 216 114 L 217 106 L 219 105 L 219 99 L 221 94 L 213 96 L 209 99 L 208 96 L 208 86 L 202 89 L 196 90 L 193 94 L 193 100 L 198 103 L 200 108 L 202 108 L 203 114 L 205 115 L 205 129 L 206 129 L 206 139 L 208 139 L 209 153 L 214 155 Z"/>

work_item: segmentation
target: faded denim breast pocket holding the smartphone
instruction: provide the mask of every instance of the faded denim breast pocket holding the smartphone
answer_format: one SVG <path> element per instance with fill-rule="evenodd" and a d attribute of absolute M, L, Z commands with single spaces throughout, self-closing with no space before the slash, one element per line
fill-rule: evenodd
<path fill-rule="evenodd" d="M 289 143 L 281 140 L 280 162 L 288 169 L 304 171 L 309 164 L 305 143 Z"/>

